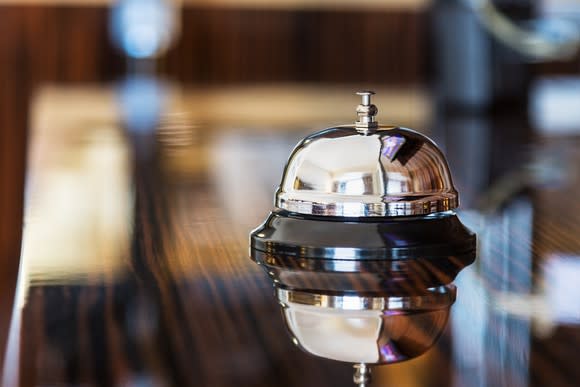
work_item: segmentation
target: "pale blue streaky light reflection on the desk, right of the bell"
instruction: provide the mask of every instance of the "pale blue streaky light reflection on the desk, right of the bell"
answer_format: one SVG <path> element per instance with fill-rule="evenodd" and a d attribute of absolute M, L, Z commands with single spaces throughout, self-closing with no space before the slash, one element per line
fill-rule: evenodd
<path fill-rule="evenodd" d="M 528 385 L 531 318 L 497 303 L 505 294 L 532 293 L 533 214 L 529 199 L 519 197 L 485 219 L 464 217 L 470 227 L 474 223 L 480 254 L 479 268 L 464 270 L 456 281 L 461 292 L 451 311 L 455 386 Z"/>

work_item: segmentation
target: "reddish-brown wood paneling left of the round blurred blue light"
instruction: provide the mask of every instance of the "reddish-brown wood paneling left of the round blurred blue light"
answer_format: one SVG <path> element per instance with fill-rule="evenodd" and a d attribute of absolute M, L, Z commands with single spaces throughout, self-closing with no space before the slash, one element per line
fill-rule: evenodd
<path fill-rule="evenodd" d="M 123 69 L 108 41 L 107 15 L 98 7 L 3 7 L 0 24 L 11 23 L 8 39 L 20 39 L 31 86 L 100 81 Z"/>

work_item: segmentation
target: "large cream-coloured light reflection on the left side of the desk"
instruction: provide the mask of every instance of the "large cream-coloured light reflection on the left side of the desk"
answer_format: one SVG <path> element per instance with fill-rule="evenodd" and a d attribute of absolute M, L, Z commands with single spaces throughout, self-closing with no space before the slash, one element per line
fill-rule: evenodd
<path fill-rule="evenodd" d="M 23 271 L 30 283 L 110 279 L 130 247 L 125 139 L 112 123 L 66 125 L 61 115 L 76 110 L 52 96 L 40 93 L 32 110 Z"/>

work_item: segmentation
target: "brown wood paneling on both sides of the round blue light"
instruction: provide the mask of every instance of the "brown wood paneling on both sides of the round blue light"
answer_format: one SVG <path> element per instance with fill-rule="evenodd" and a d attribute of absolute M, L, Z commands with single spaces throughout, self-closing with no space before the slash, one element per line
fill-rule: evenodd
<path fill-rule="evenodd" d="M 115 79 L 124 59 L 102 7 L 2 7 L 6 39 L 21 34 L 32 84 Z M 414 11 L 182 11 L 181 37 L 161 60 L 181 82 L 373 82 L 425 79 L 425 15 Z M 11 18 L 11 21 L 6 21 Z"/>

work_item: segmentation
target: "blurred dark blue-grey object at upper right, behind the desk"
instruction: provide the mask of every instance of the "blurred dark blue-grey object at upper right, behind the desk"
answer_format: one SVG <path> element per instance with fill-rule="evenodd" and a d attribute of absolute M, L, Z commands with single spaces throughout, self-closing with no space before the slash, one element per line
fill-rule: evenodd
<path fill-rule="evenodd" d="M 529 19 L 533 13 L 529 0 L 500 2 L 497 9 L 514 20 Z M 494 39 L 466 0 L 436 2 L 433 21 L 435 79 L 444 108 L 482 113 L 526 105 L 526 60 Z"/>

